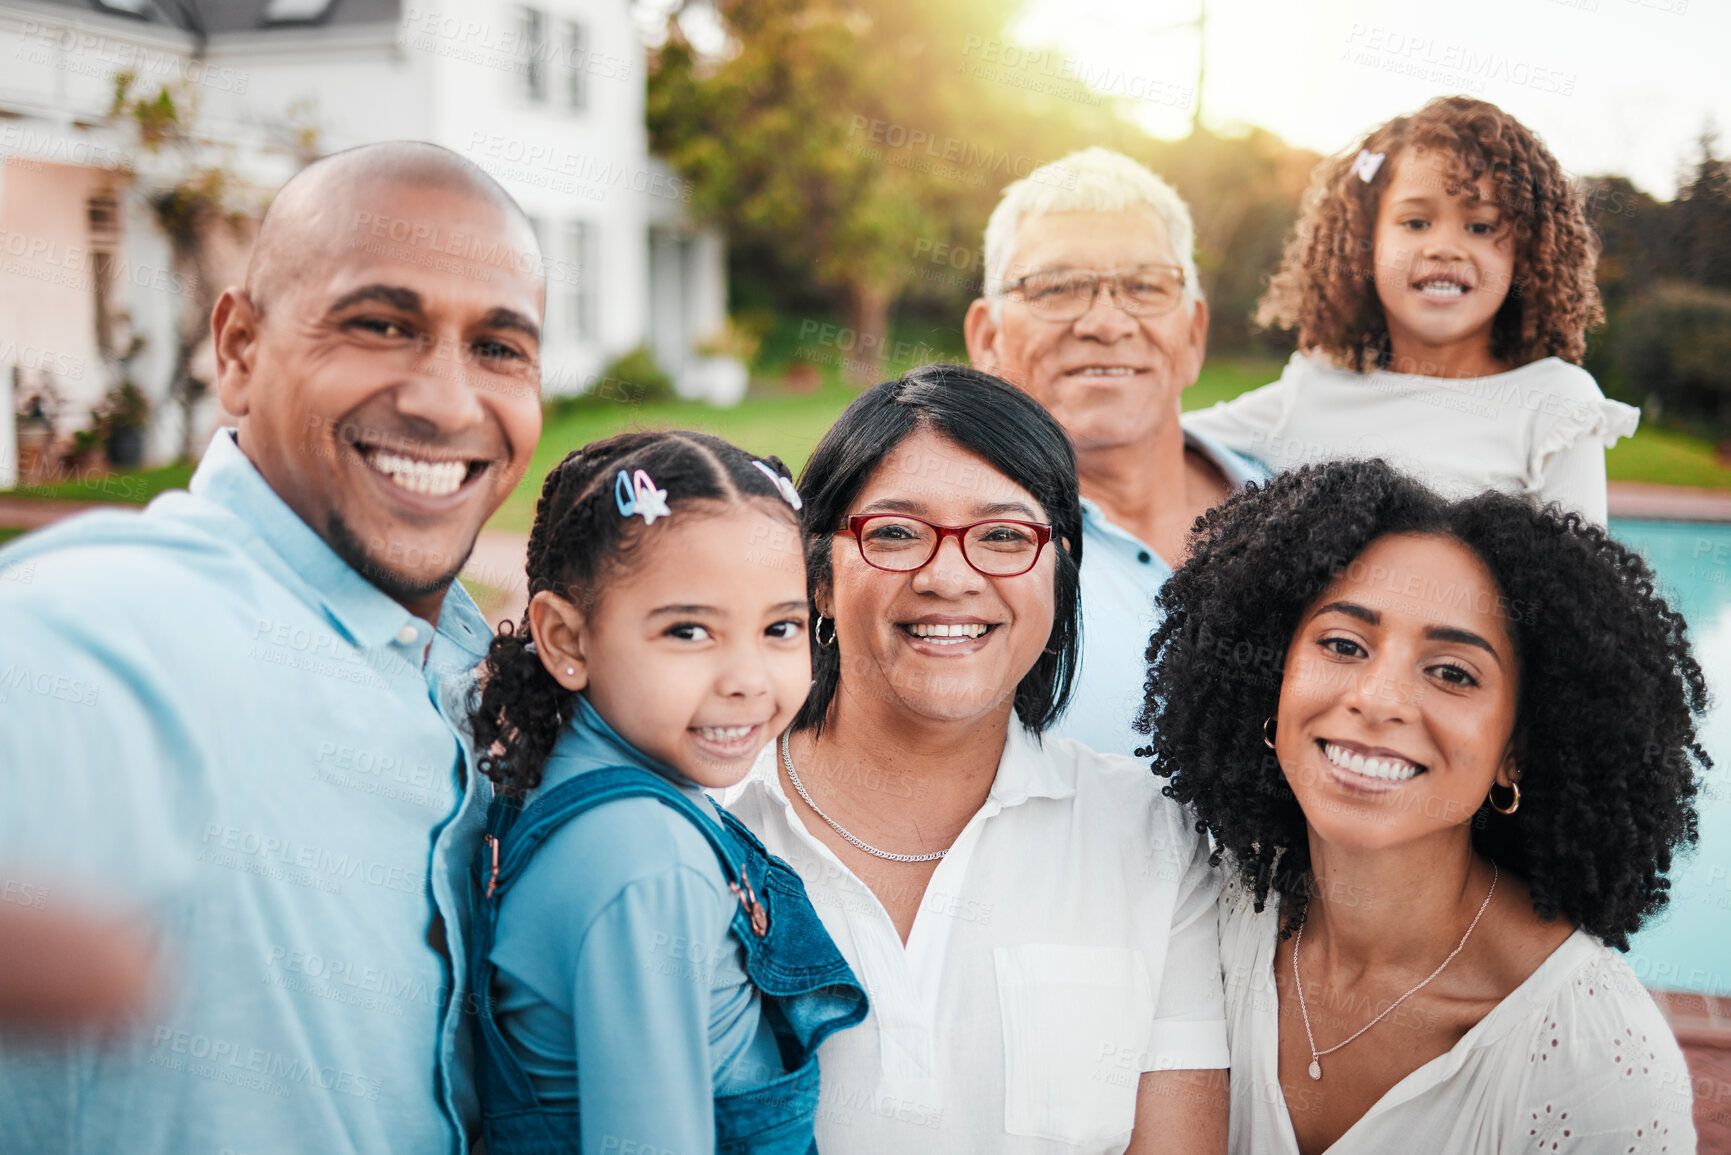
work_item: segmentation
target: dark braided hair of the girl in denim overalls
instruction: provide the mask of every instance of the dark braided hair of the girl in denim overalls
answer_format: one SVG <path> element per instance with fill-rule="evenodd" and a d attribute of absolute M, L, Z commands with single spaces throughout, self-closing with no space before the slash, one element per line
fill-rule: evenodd
<path fill-rule="evenodd" d="M 666 490 L 670 511 L 699 504 L 762 502 L 798 530 L 798 514 L 779 457 L 753 457 L 718 436 L 691 431 L 620 433 L 566 454 L 542 485 L 528 547 L 528 596 L 550 590 L 592 613 L 608 582 L 628 573 L 654 528 L 620 514 L 615 481 L 644 469 Z M 554 681 L 531 648 L 530 615 L 499 627 L 471 698 L 469 724 L 479 767 L 500 793 L 521 797 L 540 784 L 559 731 L 576 713 L 576 693 Z"/>

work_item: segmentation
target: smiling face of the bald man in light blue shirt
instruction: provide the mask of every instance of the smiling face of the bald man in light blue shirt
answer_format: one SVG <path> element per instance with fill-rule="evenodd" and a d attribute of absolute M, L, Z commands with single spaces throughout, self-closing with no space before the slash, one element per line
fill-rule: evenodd
<path fill-rule="evenodd" d="M 284 258 L 294 274 L 272 277 L 263 300 L 230 289 L 218 303 L 222 398 L 277 495 L 436 620 L 540 436 L 535 239 L 469 190 L 331 184 Z M 400 237 L 436 232 L 393 241 L 379 222 Z"/>

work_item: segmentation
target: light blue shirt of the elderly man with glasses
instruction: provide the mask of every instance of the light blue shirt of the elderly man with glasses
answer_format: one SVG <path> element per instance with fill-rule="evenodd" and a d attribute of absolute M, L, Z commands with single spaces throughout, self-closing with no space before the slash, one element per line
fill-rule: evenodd
<path fill-rule="evenodd" d="M 1212 461 L 1234 490 L 1269 478 L 1262 462 L 1193 429 L 1184 429 L 1184 443 Z M 1082 670 L 1070 708 L 1049 734 L 1101 753 L 1134 755 L 1148 745 L 1136 732 L 1136 715 L 1148 682 L 1148 637 L 1160 623 L 1155 594 L 1168 577 L 1172 566 L 1151 545 L 1082 499 Z"/>

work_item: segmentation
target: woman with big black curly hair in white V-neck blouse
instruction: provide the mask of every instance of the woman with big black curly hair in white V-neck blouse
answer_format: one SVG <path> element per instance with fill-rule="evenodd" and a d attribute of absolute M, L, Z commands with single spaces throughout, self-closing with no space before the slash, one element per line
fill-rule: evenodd
<path fill-rule="evenodd" d="M 1663 907 L 1710 765 L 1646 563 L 1335 462 L 1207 513 L 1160 608 L 1141 727 L 1226 864 L 1231 1150 L 1693 1152 L 1608 949 Z"/>

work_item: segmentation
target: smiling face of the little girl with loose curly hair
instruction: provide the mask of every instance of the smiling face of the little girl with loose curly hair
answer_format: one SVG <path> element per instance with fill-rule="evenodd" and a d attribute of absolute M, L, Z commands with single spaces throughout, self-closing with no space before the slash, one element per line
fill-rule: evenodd
<path fill-rule="evenodd" d="M 1490 322 L 1515 277 L 1513 230 L 1490 178 L 1478 199 L 1451 196 L 1437 151 L 1393 158 L 1376 208 L 1376 298 L 1388 320 L 1395 372 L 1487 376 L 1508 365 L 1490 357 Z"/>

